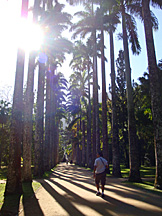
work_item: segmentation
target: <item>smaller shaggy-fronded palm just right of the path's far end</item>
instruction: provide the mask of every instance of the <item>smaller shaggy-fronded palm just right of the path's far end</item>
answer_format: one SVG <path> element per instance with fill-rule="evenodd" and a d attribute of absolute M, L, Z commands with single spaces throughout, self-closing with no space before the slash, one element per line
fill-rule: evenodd
<path fill-rule="evenodd" d="M 73 65 L 74 67 L 74 65 Z M 83 65 L 84 67 L 84 65 Z M 79 68 L 80 64 L 79 64 Z M 76 64 L 75 64 L 75 68 L 73 68 L 74 70 L 77 69 Z M 89 80 L 89 75 L 86 74 L 86 71 L 84 70 L 83 72 L 81 71 L 75 71 L 71 76 L 70 76 L 70 94 L 69 94 L 69 99 L 67 102 L 68 105 L 68 109 L 69 111 L 71 111 L 71 114 L 74 116 L 73 118 L 73 123 L 71 123 L 71 125 L 75 124 L 76 121 L 79 121 L 80 123 L 78 124 L 79 129 L 81 130 L 81 125 L 82 128 L 85 130 L 85 125 L 83 123 L 87 122 L 87 99 L 88 99 L 88 88 L 87 88 L 87 84 L 88 84 L 88 80 Z M 87 122 L 88 124 L 88 122 Z M 85 165 L 86 161 L 90 161 L 89 158 L 86 159 L 86 154 L 85 154 L 85 131 L 82 130 L 82 165 Z M 78 130 L 78 141 L 81 142 L 80 140 L 80 136 L 79 136 L 79 130 Z M 78 142 L 79 144 L 79 142 Z M 77 149 L 78 149 L 78 155 L 79 153 L 79 147 L 77 144 Z M 87 146 L 89 148 L 89 146 Z M 90 150 L 91 151 L 91 150 Z M 79 158 L 77 158 L 79 159 Z M 91 162 L 91 161 L 90 161 Z M 89 163 L 88 163 L 89 164 Z"/>

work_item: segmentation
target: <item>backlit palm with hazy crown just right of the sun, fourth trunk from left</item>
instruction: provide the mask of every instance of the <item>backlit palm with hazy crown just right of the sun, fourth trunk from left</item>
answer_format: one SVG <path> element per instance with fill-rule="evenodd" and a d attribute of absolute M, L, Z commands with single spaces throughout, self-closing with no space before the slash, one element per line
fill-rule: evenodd
<path fill-rule="evenodd" d="M 67 24 L 70 24 L 70 18 L 71 16 L 68 13 L 62 12 L 62 9 L 64 5 L 59 4 L 57 1 L 55 2 L 55 5 L 53 6 L 52 1 L 48 2 L 48 11 L 43 11 L 41 13 L 41 19 L 40 23 L 44 28 L 46 29 L 46 35 L 45 35 L 45 45 L 43 47 L 43 51 L 45 52 L 45 55 L 48 57 L 47 61 L 47 67 L 52 68 L 52 65 L 55 67 L 51 69 L 51 76 L 47 75 L 47 83 L 46 83 L 46 93 L 47 93 L 47 112 L 46 117 L 48 116 L 48 119 L 46 118 L 46 121 L 48 124 L 46 124 L 46 129 L 50 134 L 46 131 L 45 134 L 45 145 L 42 148 L 40 147 L 39 143 L 37 146 L 37 152 L 41 152 L 43 149 L 47 150 L 47 146 L 50 145 L 50 164 L 44 165 L 44 168 L 47 167 L 47 169 L 50 169 L 53 167 L 56 162 L 55 159 L 55 132 L 58 131 L 56 127 L 56 121 L 55 121 L 55 110 L 56 110 L 56 104 L 55 104 L 55 70 L 58 63 L 62 63 L 65 59 L 64 54 L 66 52 L 70 52 L 71 48 L 71 42 L 68 41 L 65 38 L 61 37 L 61 32 L 67 28 Z M 49 71 L 48 71 L 49 72 Z M 47 72 L 47 74 L 48 74 Z M 49 80 L 50 79 L 50 80 Z M 43 93 L 42 93 L 43 94 Z M 49 101 L 50 99 L 50 101 Z M 43 106 L 43 104 L 42 104 Z M 41 112 L 42 113 L 42 112 Z M 50 115 L 52 113 L 52 115 Z M 46 122 L 46 123 L 47 123 Z M 42 121 L 43 124 L 43 121 Z M 39 126 L 39 124 L 37 124 Z M 40 127 L 40 126 L 39 126 Z M 41 126 L 43 128 L 43 125 Z M 46 130 L 45 129 L 45 130 Z M 40 130 L 41 131 L 41 130 Z M 42 136 L 41 133 L 40 137 Z M 47 136 L 49 136 L 47 138 Z M 41 138 L 42 139 L 42 138 Z M 50 143 L 49 143 L 50 141 Z M 48 154 L 48 151 L 46 151 Z M 40 161 L 41 154 L 38 155 L 38 161 Z M 45 155 L 44 155 L 45 156 Z M 49 157 L 49 155 L 45 156 L 46 159 Z M 44 159 L 44 161 L 47 161 Z M 38 161 L 35 161 L 36 164 L 38 164 Z M 40 166 L 39 166 L 40 168 Z"/>

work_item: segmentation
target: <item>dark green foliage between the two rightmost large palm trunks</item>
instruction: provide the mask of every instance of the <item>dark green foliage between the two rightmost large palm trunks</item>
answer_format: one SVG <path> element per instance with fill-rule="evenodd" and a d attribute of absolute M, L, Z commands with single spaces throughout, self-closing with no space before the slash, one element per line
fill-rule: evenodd
<path fill-rule="evenodd" d="M 154 134 L 148 73 L 145 72 L 139 81 L 140 84 L 134 84 L 134 104 L 141 163 L 154 166 Z"/>

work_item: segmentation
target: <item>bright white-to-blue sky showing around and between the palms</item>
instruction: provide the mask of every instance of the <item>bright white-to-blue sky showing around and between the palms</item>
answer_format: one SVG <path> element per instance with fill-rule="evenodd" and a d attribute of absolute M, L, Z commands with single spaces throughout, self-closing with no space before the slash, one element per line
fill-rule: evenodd
<path fill-rule="evenodd" d="M 12 93 L 14 82 L 15 82 L 15 71 L 16 71 L 16 56 L 17 56 L 17 34 L 20 32 L 20 28 L 17 29 L 16 23 L 20 17 L 20 10 L 21 10 L 21 1 L 22 0 L 0 0 L 0 60 L 1 60 L 1 67 L 0 67 L 0 96 L 5 94 L 6 97 L 9 97 L 8 94 Z M 32 0 L 30 0 L 31 2 Z M 60 3 L 65 3 L 65 0 L 60 0 Z M 66 6 L 65 10 L 72 15 L 77 10 L 82 10 L 80 6 L 73 7 L 73 6 Z M 159 30 L 154 32 L 154 42 L 155 42 L 155 50 L 156 50 L 156 57 L 157 61 L 162 59 L 162 10 L 154 9 L 153 10 L 156 17 L 159 21 Z M 138 77 L 142 76 L 145 71 L 147 71 L 147 53 L 146 53 L 146 45 L 145 45 L 145 36 L 144 36 L 144 27 L 143 24 L 138 21 L 137 22 L 138 28 L 138 36 L 140 45 L 142 47 L 141 53 L 139 56 L 133 56 L 130 50 L 130 64 L 132 69 L 132 79 L 138 81 Z M 120 28 L 114 35 L 114 48 L 115 48 L 115 59 L 118 57 L 118 52 L 120 49 L 123 49 L 122 41 L 118 41 L 117 33 L 120 32 Z M 68 39 L 71 39 L 71 35 L 66 32 L 65 36 Z M 110 83 L 110 64 L 109 64 L 109 36 L 105 35 L 105 55 L 108 59 L 108 63 L 106 63 L 106 80 L 107 80 L 107 89 L 108 84 Z M 63 66 L 58 70 L 63 72 L 65 77 L 68 79 L 69 74 L 72 73 L 71 69 L 69 68 L 71 56 L 67 55 L 67 59 Z M 27 59 L 27 58 L 26 58 Z M 26 60 L 26 71 L 27 71 L 27 60 Z M 100 70 L 100 61 L 98 61 L 98 78 L 99 78 L 99 85 L 101 85 L 101 70 Z M 37 74 L 35 74 L 37 76 Z M 24 76 L 24 83 L 26 81 L 27 74 Z M 10 86 L 12 90 L 10 90 Z M 7 89 L 7 90 L 6 90 Z M 2 93 L 3 91 L 3 93 Z"/>

